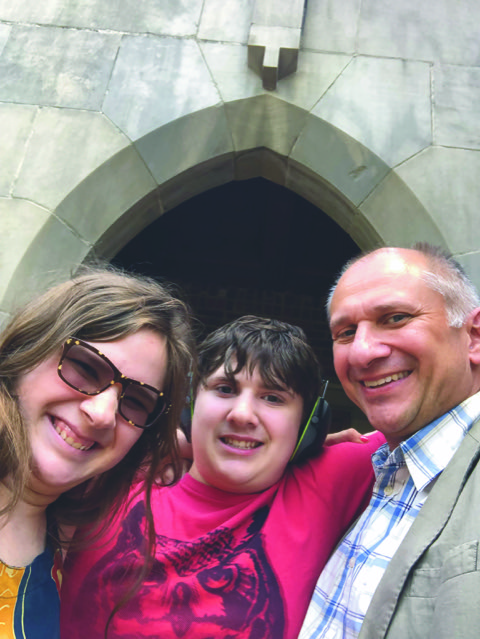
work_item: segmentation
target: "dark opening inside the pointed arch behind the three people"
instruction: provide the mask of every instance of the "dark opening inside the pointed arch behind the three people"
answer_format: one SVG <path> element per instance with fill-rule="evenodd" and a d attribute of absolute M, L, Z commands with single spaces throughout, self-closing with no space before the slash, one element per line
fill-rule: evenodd
<path fill-rule="evenodd" d="M 301 326 L 333 379 L 324 305 L 336 274 L 358 254 L 328 215 L 285 187 L 230 182 L 165 213 L 113 262 L 175 283 L 200 337 L 240 315 Z M 339 414 L 339 425 L 349 425 Z M 344 422 L 344 423 L 342 423 Z"/>

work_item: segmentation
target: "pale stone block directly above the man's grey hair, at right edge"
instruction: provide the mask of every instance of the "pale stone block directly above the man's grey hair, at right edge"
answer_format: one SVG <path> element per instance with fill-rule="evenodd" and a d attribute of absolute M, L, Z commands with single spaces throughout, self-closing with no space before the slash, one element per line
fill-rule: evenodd
<path fill-rule="evenodd" d="M 435 220 L 452 253 L 480 246 L 480 153 L 433 147 L 397 168 Z"/>

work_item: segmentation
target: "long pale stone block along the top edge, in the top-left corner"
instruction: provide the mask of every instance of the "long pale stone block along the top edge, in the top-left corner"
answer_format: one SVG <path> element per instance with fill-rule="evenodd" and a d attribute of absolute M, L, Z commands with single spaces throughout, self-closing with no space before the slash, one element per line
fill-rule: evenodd
<path fill-rule="evenodd" d="M 0 20 L 174 36 L 194 35 L 202 0 L 0 0 Z"/>

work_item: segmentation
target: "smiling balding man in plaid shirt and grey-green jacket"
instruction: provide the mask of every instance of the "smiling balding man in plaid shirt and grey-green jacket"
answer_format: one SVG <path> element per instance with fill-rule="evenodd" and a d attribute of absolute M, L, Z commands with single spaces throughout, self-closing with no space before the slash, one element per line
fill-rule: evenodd
<path fill-rule="evenodd" d="M 461 267 L 426 244 L 364 255 L 332 289 L 335 370 L 387 444 L 302 639 L 478 637 L 479 306 Z"/>

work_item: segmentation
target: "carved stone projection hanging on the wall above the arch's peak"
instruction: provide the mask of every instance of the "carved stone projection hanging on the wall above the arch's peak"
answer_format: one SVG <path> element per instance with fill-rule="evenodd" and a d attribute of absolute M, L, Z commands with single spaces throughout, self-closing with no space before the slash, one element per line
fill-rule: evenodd
<path fill-rule="evenodd" d="M 273 91 L 277 81 L 297 70 L 307 0 L 255 0 L 248 38 L 248 66 Z"/>

